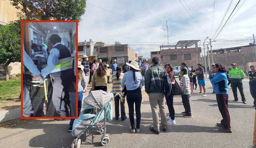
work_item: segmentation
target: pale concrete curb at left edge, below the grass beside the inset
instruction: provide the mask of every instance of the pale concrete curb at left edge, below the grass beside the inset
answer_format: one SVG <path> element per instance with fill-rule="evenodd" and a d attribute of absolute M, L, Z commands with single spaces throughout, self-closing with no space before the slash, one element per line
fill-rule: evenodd
<path fill-rule="evenodd" d="M 0 123 L 20 118 L 20 107 L 0 111 Z"/>

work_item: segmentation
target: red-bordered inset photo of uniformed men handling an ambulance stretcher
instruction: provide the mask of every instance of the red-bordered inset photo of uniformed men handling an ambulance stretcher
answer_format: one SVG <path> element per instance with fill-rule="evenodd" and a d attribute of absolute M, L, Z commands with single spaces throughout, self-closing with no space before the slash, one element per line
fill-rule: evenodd
<path fill-rule="evenodd" d="M 22 118 L 77 118 L 77 21 L 22 21 Z"/>

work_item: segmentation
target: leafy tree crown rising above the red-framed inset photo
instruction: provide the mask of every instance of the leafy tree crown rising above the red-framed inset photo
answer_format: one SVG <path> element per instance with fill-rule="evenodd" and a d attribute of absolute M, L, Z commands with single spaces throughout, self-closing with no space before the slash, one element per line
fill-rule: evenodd
<path fill-rule="evenodd" d="M 86 0 L 10 0 L 26 20 L 78 20 L 85 13 Z"/>

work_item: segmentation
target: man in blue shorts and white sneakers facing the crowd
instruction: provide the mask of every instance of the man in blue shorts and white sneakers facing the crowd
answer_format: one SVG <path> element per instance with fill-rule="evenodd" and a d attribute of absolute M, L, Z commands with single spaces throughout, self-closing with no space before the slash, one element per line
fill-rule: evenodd
<path fill-rule="evenodd" d="M 198 85 L 199 85 L 199 89 L 200 89 L 200 92 L 198 93 L 198 95 L 206 96 L 204 69 L 202 68 L 201 63 L 199 63 L 197 65 L 198 65 L 198 69 L 196 69 L 195 73 L 197 75 L 197 81 L 198 81 Z M 202 93 L 202 87 L 203 87 L 204 93 Z"/>

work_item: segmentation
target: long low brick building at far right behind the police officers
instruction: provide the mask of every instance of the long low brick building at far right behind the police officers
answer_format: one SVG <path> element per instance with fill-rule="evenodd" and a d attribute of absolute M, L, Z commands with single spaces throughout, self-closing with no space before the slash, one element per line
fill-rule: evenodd
<path fill-rule="evenodd" d="M 254 45 L 245 45 L 212 50 L 214 63 L 222 63 L 225 67 L 230 68 L 231 63 L 236 63 L 237 67 L 245 73 L 249 70 L 251 62 L 256 62 Z M 212 55 L 209 54 L 210 62 Z M 206 61 L 208 61 L 206 56 Z"/>

